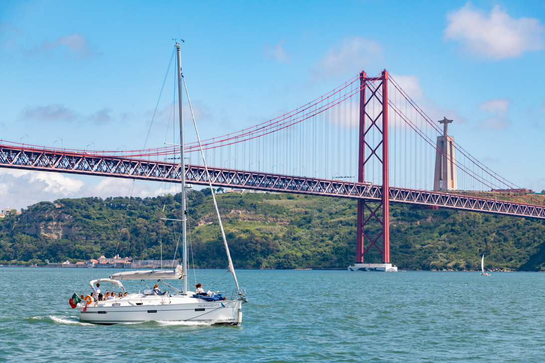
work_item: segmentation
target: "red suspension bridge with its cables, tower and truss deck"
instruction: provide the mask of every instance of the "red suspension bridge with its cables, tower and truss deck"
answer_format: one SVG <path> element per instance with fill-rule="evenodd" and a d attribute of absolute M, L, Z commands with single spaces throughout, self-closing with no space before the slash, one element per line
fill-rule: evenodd
<path fill-rule="evenodd" d="M 206 160 L 196 142 L 186 142 L 185 173 L 175 162 L 179 146 L 89 152 L 4 141 L 0 167 L 160 182 L 179 182 L 185 174 L 187 182 L 208 185 L 207 164 L 216 187 L 356 199 L 355 266 L 364 266 L 365 254 L 374 248 L 386 269 L 391 267 L 390 202 L 545 219 L 541 200 L 510 192 L 523 188 L 495 174 L 453 138 L 448 139 L 452 152 L 439 147 L 435 140 L 443 131 L 437 124 L 388 72 L 372 77 L 361 72 L 275 119 L 204 140 Z M 456 168 L 457 190 L 432 190 L 436 155 Z M 494 199 L 479 193 L 490 191 Z M 371 223 L 380 231 L 370 232 Z"/>

